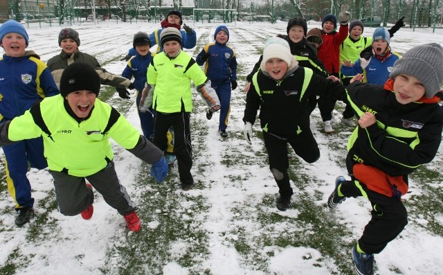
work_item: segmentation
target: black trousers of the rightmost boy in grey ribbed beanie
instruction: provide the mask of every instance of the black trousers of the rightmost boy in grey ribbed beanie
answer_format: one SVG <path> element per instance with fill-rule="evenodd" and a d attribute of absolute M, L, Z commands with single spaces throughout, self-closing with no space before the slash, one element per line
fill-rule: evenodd
<path fill-rule="evenodd" d="M 348 170 L 350 167 L 352 169 L 352 164 L 348 155 Z M 359 247 L 366 254 L 377 254 L 403 231 L 408 224 L 408 213 L 401 199 L 374 192 L 359 181 L 357 183 L 354 180 L 343 182 L 340 188 L 341 193 L 345 197 L 363 196 L 361 189 L 356 184 L 362 187 L 372 205 L 372 218 L 366 224 L 363 236 L 359 239 Z"/>

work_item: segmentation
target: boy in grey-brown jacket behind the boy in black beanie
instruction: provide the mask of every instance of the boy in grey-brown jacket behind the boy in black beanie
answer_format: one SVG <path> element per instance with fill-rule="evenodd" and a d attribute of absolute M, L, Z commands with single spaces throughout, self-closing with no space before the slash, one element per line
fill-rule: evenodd
<path fill-rule="evenodd" d="M 58 34 L 58 45 L 62 48 L 62 52 L 59 55 L 51 57 L 47 62 L 57 87 L 60 87 L 60 77 L 64 69 L 73 62 L 84 62 L 96 69 L 102 85 L 116 87 L 120 98 L 129 99 L 129 91 L 127 91 L 127 89 L 134 89 L 131 80 L 122 78 L 114 73 L 109 73 L 109 71 L 106 71 L 100 66 L 96 57 L 81 52 L 78 49 L 80 46 L 80 37 L 76 30 L 72 28 L 63 28 L 60 30 Z"/>

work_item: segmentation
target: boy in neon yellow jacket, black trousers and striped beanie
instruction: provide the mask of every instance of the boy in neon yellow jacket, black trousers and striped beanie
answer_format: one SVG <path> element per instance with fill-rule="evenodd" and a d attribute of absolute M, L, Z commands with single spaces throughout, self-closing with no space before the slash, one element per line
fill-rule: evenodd
<path fill-rule="evenodd" d="M 163 52 L 154 56 L 147 69 L 148 89 L 141 99 L 141 110 L 156 110 L 154 144 L 166 147 L 166 132 L 174 128 L 174 154 L 179 165 L 182 190 L 194 185 L 191 175 L 192 145 L 190 113 L 192 112 L 191 80 L 212 111 L 220 109 L 219 98 L 210 87 L 210 80 L 195 60 L 181 51 L 181 33 L 177 28 L 165 28 L 160 38 Z"/>

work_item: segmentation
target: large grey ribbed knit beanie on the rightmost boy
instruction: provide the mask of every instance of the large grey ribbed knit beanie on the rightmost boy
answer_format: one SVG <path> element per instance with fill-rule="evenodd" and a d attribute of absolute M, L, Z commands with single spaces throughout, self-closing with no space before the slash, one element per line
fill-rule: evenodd
<path fill-rule="evenodd" d="M 389 78 L 399 74 L 418 78 L 426 89 L 426 98 L 432 98 L 440 90 L 443 82 L 443 50 L 437 43 L 424 44 L 411 48 L 394 63 Z"/>

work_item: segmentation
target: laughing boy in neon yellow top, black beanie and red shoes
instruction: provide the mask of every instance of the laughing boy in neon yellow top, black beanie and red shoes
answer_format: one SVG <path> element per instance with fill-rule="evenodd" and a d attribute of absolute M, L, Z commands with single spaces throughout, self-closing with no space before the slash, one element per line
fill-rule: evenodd
<path fill-rule="evenodd" d="M 168 163 L 161 150 L 116 109 L 97 98 L 100 77 L 89 64 L 69 65 L 60 79 L 60 91 L 60 96 L 45 98 L 24 115 L 2 123 L 0 145 L 43 136 L 44 155 L 53 176 L 60 213 L 81 214 L 89 220 L 93 215 L 93 187 L 123 215 L 130 231 L 140 230 L 136 205 L 118 180 L 109 138 L 152 163 L 159 182 L 168 174 Z"/>

